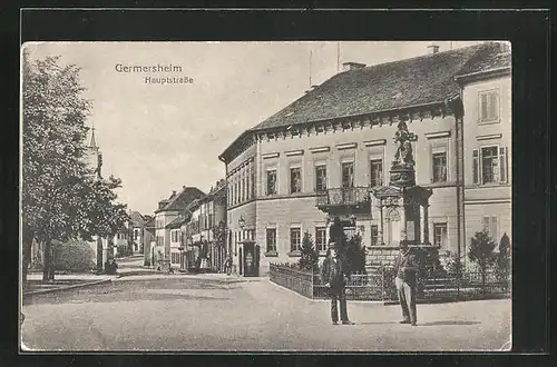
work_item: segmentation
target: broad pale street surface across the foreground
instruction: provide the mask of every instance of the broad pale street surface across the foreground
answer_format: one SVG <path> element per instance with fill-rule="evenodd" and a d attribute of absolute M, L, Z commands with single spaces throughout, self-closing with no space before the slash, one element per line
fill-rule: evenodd
<path fill-rule="evenodd" d="M 329 302 L 267 279 L 131 276 L 26 300 L 31 350 L 497 350 L 510 300 L 419 305 L 418 327 L 398 306 L 349 301 L 353 326 L 333 326 Z"/>

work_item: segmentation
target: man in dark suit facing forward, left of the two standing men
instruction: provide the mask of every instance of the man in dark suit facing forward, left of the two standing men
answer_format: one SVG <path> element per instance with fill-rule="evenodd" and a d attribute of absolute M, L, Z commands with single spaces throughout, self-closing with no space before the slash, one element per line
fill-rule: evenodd
<path fill-rule="evenodd" d="M 341 321 L 343 325 L 354 325 L 348 318 L 346 311 L 346 280 L 350 279 L 350 272 L 346 259 L 340 255 L 339 244 L 329 244 L 329 256 L 323 260 L 321 267 L 321 282 L 325 285 L 331 297 L 331 319 L 333 325 L 339 324 L 339 310 L 336 300 L 341 304 Z"/>

